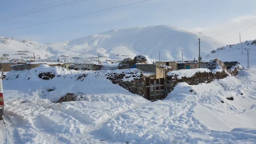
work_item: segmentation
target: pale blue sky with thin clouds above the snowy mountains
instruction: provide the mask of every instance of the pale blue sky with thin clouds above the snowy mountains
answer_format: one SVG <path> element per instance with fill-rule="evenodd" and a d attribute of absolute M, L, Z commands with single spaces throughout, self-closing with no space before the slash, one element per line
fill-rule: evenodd
<path fill-rule="evenodd" d="M 41 43 L 162 24 L 226 44 L 239 43 L 239 33 L 254 40 L 256 0 L 0 0 L 0 35 Z"/>

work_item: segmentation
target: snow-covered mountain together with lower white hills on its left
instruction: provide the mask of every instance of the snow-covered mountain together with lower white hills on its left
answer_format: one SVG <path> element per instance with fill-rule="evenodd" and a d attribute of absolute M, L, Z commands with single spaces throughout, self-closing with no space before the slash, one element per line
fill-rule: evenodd
<path fill-rule="evenodd" d="M 0 37 L 1 54 L 10 54 L 11 58 L 21 58 L 17 51 L 28 51 L 26 56 L 56 60 L 61 55 L 80 58 L 100 56 L 120 60 L 138 54 L 148 56 L 152 61 L 159 60 L 194 60 L 199 54 L 198 38 L 201 41 L 201 55 L 225 44 L 202 33 L 193 33 L 174 26 L 144 26 L 114 29 L 70 41 L 41 44 L 32 40 L 14 40 Z M 183 51 L 181 51 L 183 50 Z M 14 55 L 16 54 L 16 55 Z M 125 55 L 125 56 L 124 56 Z"/>

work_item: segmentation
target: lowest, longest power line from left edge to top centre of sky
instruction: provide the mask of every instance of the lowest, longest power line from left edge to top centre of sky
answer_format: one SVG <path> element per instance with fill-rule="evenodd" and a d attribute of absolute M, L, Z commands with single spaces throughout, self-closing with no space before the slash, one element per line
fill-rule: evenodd
<path fill-rule="evenodd" d="M 134 3 L 131 3 L 131 4 L 125 4 L 125 5 L 122 5 L 122 6 L 116 6 L 116 7 L 107 8 L 107 9 L 104 9 L 104 10 L 98 10 L 98 11 L 94 11 L 94 12 L 88 12 L 88 13 L 86 13 L 86 14 L 80 14 L 80 15 L 71 16 L 71 17 L 68 17 L 68 18 L 62 18 L 62 19 L 59 19 L 59 20 L 53 20 L 53 21 L 50 21 L 50 22 L 44 22 L 44 23 L 40 23 L 40 24 L 34 24 L 34 25 L 31 25 L 31 26 L 24 26 L 24 27 L 14 28 L 14 29 L 10 29 L 10 30 L 3 30 L 3 31 L 0 31 L 0 32 L 7 32 L 7 31 L 11 31 L 11 30 L 18 30 L 18 29 L 22 29 L 22 28 L 28 28 L 28 27 L 38 26 L 38 25 L 42 25 L 42 24 L 48 24 L 48 23 L 51 23 L 51 22 L 57 22 L 57 21 L 60 21 L 60 20 L 66 20 L 66 19 L 69 19 L 69 18 L 75 18 L 75 17 L 78 17 L 78 16 L 84 16 L 84 15 L 87 15 L 87 14 L 92 14 L 92 13 L 96 13 L 96 12 L 102 12 L 102 11 L 105 11 L 105 10 L 111 10 L 111 9 L 114 9 L 114 8 L 120 8 L 120 7 L 129 6 L 129 5 L 132 5 L 132 4 L 138 4 L 138 3 L 146 2 L 146 1 L 150 1 L 150 0 L 144 0 L 144 1 L 140 1 L 140 2 L 134 2 Z"/>

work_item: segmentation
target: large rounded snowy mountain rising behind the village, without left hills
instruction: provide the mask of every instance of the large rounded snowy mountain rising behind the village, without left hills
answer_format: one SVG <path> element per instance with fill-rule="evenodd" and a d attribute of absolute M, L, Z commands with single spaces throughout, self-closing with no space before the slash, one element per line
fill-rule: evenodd
<path fill-rule="evenodd" d="M 153 60 L 182 60 L 181 49 L 184 60 L 194 60 L 198 57 L 198 38 L 206 42 L 202 43 L 202 54 L 208 54 L 211 50 L 219 48 L 224 44 L 217 40 L 177 28 L 174 26 L 145 26 L 135 28 L 114 29 L 108 32 L 64 41 L 64 49 L 78 53 L 104 55 L 111 59 L 117 59 L 116 54 L 129 55 L 130 58 L 138 54 L 145 54 Z M 51 43 L 63 46 L 62 42 Z"/>

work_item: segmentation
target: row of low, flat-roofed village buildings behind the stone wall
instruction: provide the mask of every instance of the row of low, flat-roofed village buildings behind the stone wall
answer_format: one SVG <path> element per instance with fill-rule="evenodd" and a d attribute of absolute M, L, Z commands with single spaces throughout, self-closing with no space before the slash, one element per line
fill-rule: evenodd
<path fill-rule="evenodd" d="M 126 68 L 138 68 L 143 72 L 148 72 L 155 74 L 155 78 L 164 78 L 166 73 L 172 70 L 182 70 L 182 69 L 194 69 L 194 68 L 206 68 L 208 62 L 202 62 L 199 60 L 190 60 L 190 61 L 156 61 L 153 64 L 148 64 L 146 58 L 143 55 L 138 55 L 142 58 L 124 58 L 124 60 L 119 62 L 118 60 L 108 60 L 106 56 L 98 57 L 89 57 L 89 58 L 80 58 L 61 55 L 57 60 L 44 59 L 41 60 L 40 56 L 37 57 L 27 56 L 28 51 L 17 51 L 17 54 L 21 55 L 21 59 L 10 59 L 8 58 L 10 54 L 2 54 L 0 57 L 0 68 L 3 72 L 8 72 L 10 70 L 30 70 L 40 66 L 40 64 L 47 64 L 49 66 L 61 66 L 67 69 L 74 70 L 117 70 L 117 69 L 126 69 Z M 128 57 L 128 56 L 126 56 Z M 124 64 L 126 61 L 133 61 L 133 63 Z M 238 62 L 226 62 L 227 68 L 237 64 Z M 122 65 L 125 65 L 122 66 Z"/>

